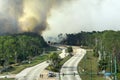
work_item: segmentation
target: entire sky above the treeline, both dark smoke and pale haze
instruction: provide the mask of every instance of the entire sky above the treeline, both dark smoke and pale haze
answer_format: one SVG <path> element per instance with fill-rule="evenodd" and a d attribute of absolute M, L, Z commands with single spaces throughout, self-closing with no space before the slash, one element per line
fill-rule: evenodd
<path fill-rule="evenodd" d="M 0 0 L 0 35 L 120 30 L 120 0 Z"/>

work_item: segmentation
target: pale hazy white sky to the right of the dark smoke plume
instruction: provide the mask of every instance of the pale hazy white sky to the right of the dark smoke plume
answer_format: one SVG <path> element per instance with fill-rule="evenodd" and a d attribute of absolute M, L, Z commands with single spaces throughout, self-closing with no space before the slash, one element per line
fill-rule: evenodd
<path fill-rule="evenodd" d="M 71 0 L 53 8 L 43 35 L 93 30 L 120 30 L 120 0 Z"/>

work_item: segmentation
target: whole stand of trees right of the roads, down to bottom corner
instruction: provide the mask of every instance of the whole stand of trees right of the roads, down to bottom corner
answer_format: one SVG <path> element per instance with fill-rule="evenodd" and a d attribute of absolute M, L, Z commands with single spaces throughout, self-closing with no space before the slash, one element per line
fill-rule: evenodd
<path fill-rule="evenodd" d="M 99 59 L 97 62 L 99 72 L 115 73 L 120 79 L 120 31 L 82 31 L 76 34 L 66 34 L 66 38 L 61 43 L 93 49 L 94 57 Z"/>

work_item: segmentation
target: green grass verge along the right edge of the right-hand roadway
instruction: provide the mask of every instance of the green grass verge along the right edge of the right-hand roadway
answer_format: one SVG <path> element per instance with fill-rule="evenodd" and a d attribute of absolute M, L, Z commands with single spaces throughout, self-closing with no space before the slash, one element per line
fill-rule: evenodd
<path fill-rule="evenodd" d="M 98 59 L 93 56 L 93 51 L 87 51 L 78 66 L 78 71 L 82 80 L 105 80 L 103 75 L 97 75 L 97 60 Z M 93 75 L 90 74 L 91 72 Z"/>

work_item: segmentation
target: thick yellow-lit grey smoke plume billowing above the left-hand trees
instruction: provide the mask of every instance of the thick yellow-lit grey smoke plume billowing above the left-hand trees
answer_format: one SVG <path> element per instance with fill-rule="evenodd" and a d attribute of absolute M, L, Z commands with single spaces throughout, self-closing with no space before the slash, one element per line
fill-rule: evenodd
<path fill-rule="evenodd" d="M 0 34 L 37 32 L 48 26 L 54 7 L 67 0 L 0 0 Z"/>

